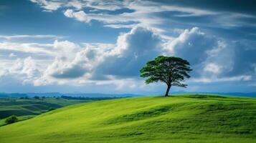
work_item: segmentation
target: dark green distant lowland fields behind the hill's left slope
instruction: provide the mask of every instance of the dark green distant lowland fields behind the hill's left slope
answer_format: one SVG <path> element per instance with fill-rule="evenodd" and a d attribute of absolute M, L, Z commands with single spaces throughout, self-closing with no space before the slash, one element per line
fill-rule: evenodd
<path fill-rule="evenodd" d="M 0 98 L 0 126 L 4 125 L 6 117 L 16 115 L 19 120 L 32 118 L 38 114 L 48 112 L 51 109 L 65 107 L 70 104 L 91 102 L 93 99 L 63 99 L 60 97 L 47 98 Z"/>

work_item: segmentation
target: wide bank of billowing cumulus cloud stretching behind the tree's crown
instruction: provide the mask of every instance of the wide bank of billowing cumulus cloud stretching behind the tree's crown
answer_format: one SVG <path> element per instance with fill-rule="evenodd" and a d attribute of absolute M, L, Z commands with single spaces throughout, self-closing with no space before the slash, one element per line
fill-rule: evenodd
<path fill-rule="evenodd" d="M 1 77 L 19 75 L 23 77 L 23 83 L 36 86 L 113 84 L 120 89 L 125 86 L 131 89 L 140 87 L 143 80 L 138 77 L 139 69 L 146 61 L 160 54 L 188 59 L 194 69 L 190 83 L 248 82 L 253 80 L 256 72 L 255 59 L 241 58 L 244 55 L 241 51 L 251 52 L 255 49 L 242 49 L 240 45 L 238 48 L 237 41 L 209 35 L 198 27 L 180 30 L 179 36 L 171 39 L 159 34 L 156 29 L 135 26 L 131 31 L 120 34 L 115 44 L 76 44 L 55 40 L 52 44 L 0 43 L 0 49 L 8 46 L 9 49 L 18 50 L 13 45 L 22 47 L 22 50 L 28 48 L 28 52 L 33 51 L 33 54 L 43 52 L 52 55 L 47 62 L 27 56 L 0 64 L 6 67 L 1 70 Z M 11 53 L 10 57 L 19 58 L 19 54 Z M 248 61 L 250 66 L 245 68 L 246 72 L 237 70 L 240 64 Z"/>

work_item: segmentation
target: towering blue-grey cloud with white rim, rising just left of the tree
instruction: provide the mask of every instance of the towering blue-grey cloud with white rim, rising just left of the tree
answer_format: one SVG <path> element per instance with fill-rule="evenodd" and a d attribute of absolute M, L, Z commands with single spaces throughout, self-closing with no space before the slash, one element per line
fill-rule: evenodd
<path fill-rule="evenodd" d="M 93 73 L 120 77 L 138 76 L 138 71 L 146 61 L 161 54 L 161 37 L 152 29 L 133 28 L 118 37 L 114 56 L 108 56 Z M 117 70 L 118 69 L 118 70 Z"/>

